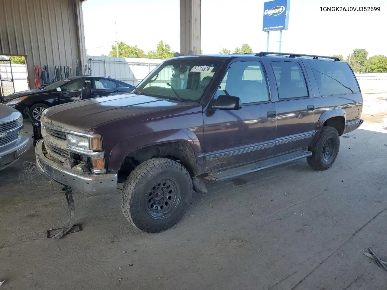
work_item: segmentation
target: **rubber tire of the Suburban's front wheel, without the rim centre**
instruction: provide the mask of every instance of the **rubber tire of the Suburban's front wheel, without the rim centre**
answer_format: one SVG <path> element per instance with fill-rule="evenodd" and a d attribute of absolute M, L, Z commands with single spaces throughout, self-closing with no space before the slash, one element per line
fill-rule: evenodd
<path fill-rule="evenodd" d="M 154 218 L 147 212 L 146 196 L 152 191 L 152 186 L 163 178 L 175 179 L 181 190 L 180 201 L 167 217 Z M 149 159 L 130 173 L 121 195 L 122 212 L 137 229 L 158 233 L 180 221 L 187 211 L 192 191 L 191 176 L 183 165 L 166 158 Z"/>

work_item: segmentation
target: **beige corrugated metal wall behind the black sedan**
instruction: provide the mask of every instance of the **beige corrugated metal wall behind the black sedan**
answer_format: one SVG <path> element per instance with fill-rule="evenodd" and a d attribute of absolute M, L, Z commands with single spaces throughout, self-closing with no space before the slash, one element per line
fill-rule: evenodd
<path fill-rule="evenodd" d="M 0 0 L 0 55 L 25 55 L 30 87 L 34 65 L 84 63 L 82 6 L 79 0 Z"/>

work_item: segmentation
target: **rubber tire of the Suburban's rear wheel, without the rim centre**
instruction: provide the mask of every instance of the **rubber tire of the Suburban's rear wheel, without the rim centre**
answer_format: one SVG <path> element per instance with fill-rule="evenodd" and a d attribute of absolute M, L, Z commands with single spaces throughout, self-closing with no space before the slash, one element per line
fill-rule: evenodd
<path fill-rule="evenodd" d="M 323 148 L 325 142 L 333 138 L 335 142 L 335 148 L 332 157 L 328 162 L 323 159 Z M 315 170 L 326 170 L 329 169 L 335 162 L 337 154 L 339 153 L 340 147 L 340 136 L 336 128 L 330 126 L 323 126 L 320 131 L 320 136 L 313 146 L 308 147 L 308 150 L 313 153 L 312 156 L 307 157 L 308 164 Z"/>

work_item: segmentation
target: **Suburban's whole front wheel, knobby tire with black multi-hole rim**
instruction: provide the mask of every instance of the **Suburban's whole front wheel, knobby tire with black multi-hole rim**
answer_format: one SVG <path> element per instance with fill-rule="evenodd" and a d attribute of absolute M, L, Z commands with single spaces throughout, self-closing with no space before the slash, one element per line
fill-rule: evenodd
<path fill-rule="evenodd" d="M 192 179 L 187 169 L 166 158 L 137 166 L 125 183 L 122 212 L 137 229 L 158 233 L 173 227 L 187 211 Z"/>

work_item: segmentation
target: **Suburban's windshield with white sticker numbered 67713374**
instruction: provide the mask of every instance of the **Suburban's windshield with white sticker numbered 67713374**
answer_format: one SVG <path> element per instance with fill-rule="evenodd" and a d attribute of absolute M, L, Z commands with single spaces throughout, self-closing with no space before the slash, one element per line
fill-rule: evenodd
<path fill-rule="evenodd" d="M 145 95 L 199 102 L 221 64 L 202 57 L 166 61 L 137 87 Z"/>

